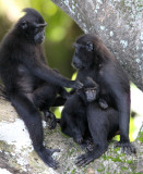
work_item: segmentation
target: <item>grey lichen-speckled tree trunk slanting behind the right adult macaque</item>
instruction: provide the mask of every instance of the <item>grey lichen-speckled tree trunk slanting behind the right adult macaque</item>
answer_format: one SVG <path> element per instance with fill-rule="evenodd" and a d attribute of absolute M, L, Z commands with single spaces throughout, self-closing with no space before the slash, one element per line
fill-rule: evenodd
<path fill-rule="evenodd" d="M 97 34 L 129 78 L 143 90 L 143 3 L 141 0 L 52 0 L 85 34 Z"/>

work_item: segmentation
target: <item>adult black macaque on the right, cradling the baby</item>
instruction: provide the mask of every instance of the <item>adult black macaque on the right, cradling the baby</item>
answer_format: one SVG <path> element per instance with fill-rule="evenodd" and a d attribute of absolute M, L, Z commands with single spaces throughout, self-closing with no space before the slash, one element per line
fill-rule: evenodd
<path fill-rule="evenodd" d="M 103 108 L 104 105 L 106 108 L 106 103 L 109 105 L 107 110 L 103 110 L 98 107 L 97 101 L 90 103 L 86 108 L 81 107 L 79 104 L 80 102 L 76 103 L 76 99 L 67 101 L 67 103 L 65 103 L 65 107 L 72 105 L 72 103 L 75 105 L 75 110 L 73 111 L 74 115 L 79 114 L 80 111 L 82 112 L 78 117 L 79 120 L 70 115 L 73 119 L 68 120 L 68 124 L 64 126 L 70 126 L 71 129 L 75 129 L 72 127 L 72 124 L 78 120 L 76 127 L 81 127 L 82 125 L 84 130 L 90 129 L 95 146 L 92 152 L 80 157 L 76 164 L 87 164 L 98 158 L 107 149 L 107 139 L 111 137 L 110 134 L 115 134 L 116 132 L 112 130 L 112 127 L 116 127 L 114 129 L 118 129 L 118 122 L 120 132 L 120 141 L 118 146 L 122 147 L 122 149 L 128 152 L 135 152 L 135 148 L 129 140 L 130 83 L 127 74 L 98 36 L 90 34 L 84 35 L 76 40 L 74 47 L 75 52 L 72 64 L 78 70 L 76 80 L 84 84 L 85 78 L 87 76 L 91 77 L 99 85 L 98 97 L 104 101 L 102 102 Z M 74 98 L 74 96 L 72 98 Z M 70 108 L 67 110 L 71 111 Z M 88 126 L 84 120 L 87 120 Z"/>

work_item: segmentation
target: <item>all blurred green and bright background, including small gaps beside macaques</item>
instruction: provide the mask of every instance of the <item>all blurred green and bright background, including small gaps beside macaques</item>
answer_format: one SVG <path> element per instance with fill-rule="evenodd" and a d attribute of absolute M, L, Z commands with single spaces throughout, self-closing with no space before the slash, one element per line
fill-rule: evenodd
<path fill-rule="evenodd" d="M 83 34 L 80 27 L 50 0 L 0 0 L 0 40 L 11 26 L 22 16 L 22 9 L 34 8 L 48 23 L 44 42 L 47 62 L 50 67 L 73 78 L 75 70 L 71 65 L 73 42 Z M 130 138 L 133 140 L 143 122 L 143 92 L 131 85 L 132 114 Z M 56 108 L 55 114 L 60 117 L 62 108 Z"/>

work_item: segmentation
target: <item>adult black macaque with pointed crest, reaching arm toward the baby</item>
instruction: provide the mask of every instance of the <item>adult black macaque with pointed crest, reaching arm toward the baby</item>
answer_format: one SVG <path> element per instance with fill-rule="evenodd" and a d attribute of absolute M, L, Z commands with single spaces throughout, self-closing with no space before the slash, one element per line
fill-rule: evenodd
<path fill-rule="evenodd" d="M 41 42 L 47 24 L 36 10 L 23 11 L 25 15 L 1 42 L 0 76 L 12 105 L 29 132 L 34 149 L 46 164 L 57 169 L 59 164 L 51 154 L 59 150 L 46 149 L 43 145 L 38 109 L 48 111 L 62 87 L 81 88 L 82 84 L 61 76 L 46 64 Z M 53 115 L 49 116 L 55 122 Z"/>

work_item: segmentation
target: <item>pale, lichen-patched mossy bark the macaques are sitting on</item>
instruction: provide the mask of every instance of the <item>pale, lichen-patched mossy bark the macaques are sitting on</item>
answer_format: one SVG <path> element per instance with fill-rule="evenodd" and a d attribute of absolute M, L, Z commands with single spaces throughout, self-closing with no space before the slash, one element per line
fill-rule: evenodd
<path fill-rule="evenodd" d="M 84 153 L 72 138 L 60 132 L 60 127 L 49 130 L 44 122 L 45 145 L 59 148 L 53 154 L 60 163 L 56 171 L 48 167 L 33 150 L 31 139 L 23 121 L 19 119 L 10 102 L 0 99 L 0 173 L 3 170 L 12 174 L 127 174 L 143 173 L 143 128 L 133 142 L 135 156 L 127 156 L 120 148 L 115 149 L 115 142 L 109 144 L 108 150 L 97 160 L 85 167 L 75 165 L 76 157 Z"/>

